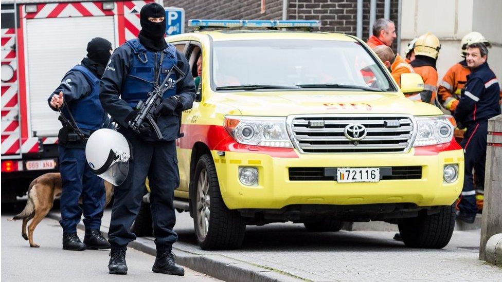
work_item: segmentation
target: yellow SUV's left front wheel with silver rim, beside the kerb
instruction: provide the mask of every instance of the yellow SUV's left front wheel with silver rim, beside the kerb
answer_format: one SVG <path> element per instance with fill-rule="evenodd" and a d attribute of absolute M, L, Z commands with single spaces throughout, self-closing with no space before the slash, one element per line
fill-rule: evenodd
<path fill-rule="evenodd" d="M 211 155 L 205 154 L 197 162 L 193 185 L 190 196 L 199 246 L 203 250 L 241 247 L 246 223 L 239 212 L 229 210 L 223 202 Z"/>

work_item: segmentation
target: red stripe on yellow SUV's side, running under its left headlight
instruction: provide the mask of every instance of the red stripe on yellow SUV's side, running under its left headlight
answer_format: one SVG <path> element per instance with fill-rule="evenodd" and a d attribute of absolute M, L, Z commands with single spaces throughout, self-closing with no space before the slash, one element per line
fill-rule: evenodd
<path fill-rule="evenodd" d="M 210 150 L 239 153 L 266 154 L 275 158 L 298 158 L 293 148 L 244 145 L 237 143 L 221 125 L 184 124 L 180 148 L 192 149 L 196 142 L 206 144 Z"/>

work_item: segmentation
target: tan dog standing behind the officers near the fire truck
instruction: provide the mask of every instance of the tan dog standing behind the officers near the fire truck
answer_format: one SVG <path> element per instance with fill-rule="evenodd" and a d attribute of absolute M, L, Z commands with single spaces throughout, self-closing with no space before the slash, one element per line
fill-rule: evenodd
<path fill-rule="evenodd" d="M 104 206 L 106 206 L 113 197 L 113 185 L 104 181 L 104 187 L 106 190 Z M 40 221 L 49 213 L 50 209 L 52 209 L 54 200 L 61 196 L 61 192 L 60 173 L 46 173 L 31 181 L 28 187 L 28 201 L 26 202 L 24 210 L 11 219 L 23 219 L 21 235 L 25 240 L 29 241 L 30 247 L 40 247 L 33 242 L 33 231 Z M 79 202 L 82 203 L 82 198 L 80 198 Z M 33 220 L 28 226 L 28 235 L 26 235 L 26 225 L 30 219 Z"/>

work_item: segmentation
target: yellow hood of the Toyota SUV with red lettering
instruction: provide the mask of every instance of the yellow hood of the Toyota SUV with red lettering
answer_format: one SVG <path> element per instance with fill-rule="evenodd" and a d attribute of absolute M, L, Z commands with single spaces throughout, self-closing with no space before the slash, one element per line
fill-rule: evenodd
<path fill-rule="evenodd" d="M 221 95 L 221 96 L 220 96 Z M 295 114 L 409 114 L 442 115 L 437 107 L 414 102 L 400 93 L 367 91 L 274 91 L 218 93 L 221 103 L 243 116 Z"/>

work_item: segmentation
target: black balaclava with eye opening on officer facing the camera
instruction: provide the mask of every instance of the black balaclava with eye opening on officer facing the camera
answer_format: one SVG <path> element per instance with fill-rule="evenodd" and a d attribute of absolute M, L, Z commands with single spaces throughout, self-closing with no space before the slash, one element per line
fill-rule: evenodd
<path fill-rule="evenodd" d="M 161 23 L 153 23 L 149 17 L 164 17 Z M 164 35 L 166 34 L 166 11 L 157 3 L 148 3 L 139 12 L 141 31 L 138 34 L 139 42 L 148 49 L 160 51 L 167 48 Z"/>

